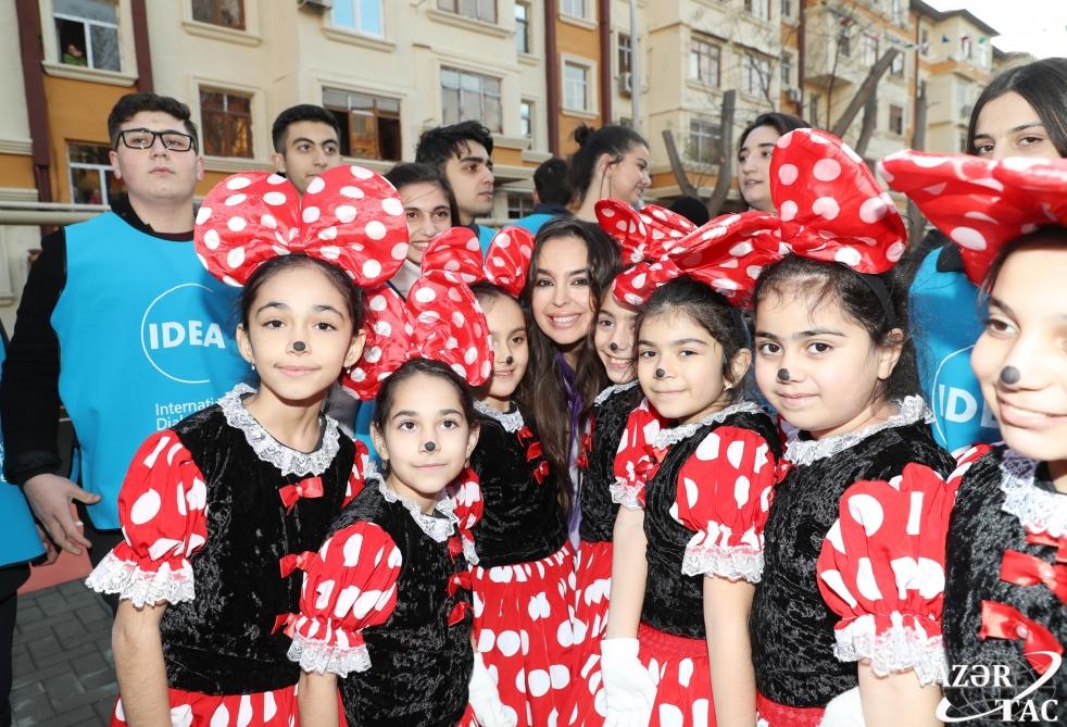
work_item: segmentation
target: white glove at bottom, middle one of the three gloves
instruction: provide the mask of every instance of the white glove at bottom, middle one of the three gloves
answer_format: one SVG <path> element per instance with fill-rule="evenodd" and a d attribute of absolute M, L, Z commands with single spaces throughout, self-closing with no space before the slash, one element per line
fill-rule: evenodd
<path fill-rule="evenodd" d="M 656 686 L 638 654 L 637 639 L 600 642 L 600 673 L 604 680 L 604 727 L 648 727 Z"/>

